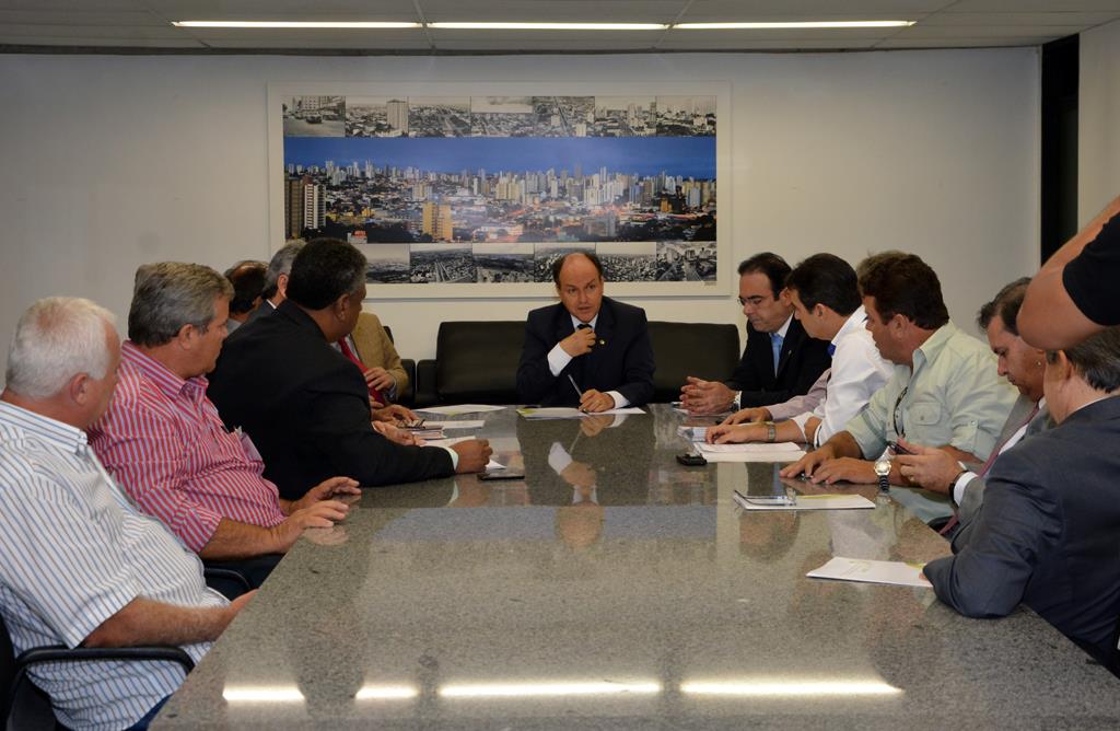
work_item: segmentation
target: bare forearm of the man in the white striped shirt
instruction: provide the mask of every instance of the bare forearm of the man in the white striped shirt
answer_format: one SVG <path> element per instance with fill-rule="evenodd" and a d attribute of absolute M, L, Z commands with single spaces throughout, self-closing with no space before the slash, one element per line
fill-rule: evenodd
<path fill-rule="evenodd" d="M 232 607 L 176 607 L 137 596 L 102 622 L 85 647 L 190 645 L 217 639 L 233 620 Z"/>

